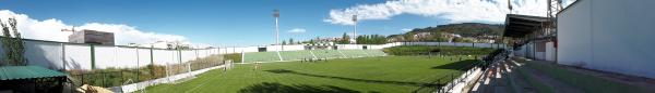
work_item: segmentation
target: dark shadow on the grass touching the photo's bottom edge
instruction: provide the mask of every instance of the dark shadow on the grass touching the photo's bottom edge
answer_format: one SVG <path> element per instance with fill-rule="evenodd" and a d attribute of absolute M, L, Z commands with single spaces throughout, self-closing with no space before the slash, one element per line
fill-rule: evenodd
<path fill-rule="evenodd" d="M 334 85 L 308 85 L 294 84 L 285 85 L 276 82 L 262 82 L 252 84 L 239 90 L 238 93 L 361 93 L 349 89 L 338 88 Z"/>

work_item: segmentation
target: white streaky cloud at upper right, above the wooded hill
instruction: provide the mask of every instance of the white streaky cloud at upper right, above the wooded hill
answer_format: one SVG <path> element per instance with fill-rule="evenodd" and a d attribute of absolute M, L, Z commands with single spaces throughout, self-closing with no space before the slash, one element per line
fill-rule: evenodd
<path fill-rule="evenodd" d="M 511 3 L 513 14 L 546 16 L 547 0 L 512 0 Z M 394 0 L 334 9 L 323 22 L 353 25 L 354 14 L 357 14 L 358 21 L 390 19 L 401 14 L 413 14 L 446 19 L 449 23 L 502 23 L 508 13 L 507 0 Z"/>

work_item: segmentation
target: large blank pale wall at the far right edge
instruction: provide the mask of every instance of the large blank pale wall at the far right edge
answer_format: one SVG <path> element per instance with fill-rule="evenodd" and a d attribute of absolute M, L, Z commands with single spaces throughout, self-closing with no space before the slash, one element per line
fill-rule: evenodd
<path fill-rule="evenodd" d="M 558 64 L 655 78 L 654 0 L 579 0 L 558 14 Z"/>

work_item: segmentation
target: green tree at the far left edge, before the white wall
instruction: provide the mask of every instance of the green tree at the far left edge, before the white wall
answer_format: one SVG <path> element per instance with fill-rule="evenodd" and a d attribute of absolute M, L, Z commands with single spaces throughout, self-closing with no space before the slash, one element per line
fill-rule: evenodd
<path fill-rule="evenodd" d="M 16 28 L 16 19 L 9 18 L 8 23 L 9 26 L 0 21 L 0 27 L 2 28 L 2 34 L 4 36 L 4 38 L 1 40 L 5 56 L 4 64 L 13 66 L 26 65 L 26 61 L 23 55 L 25 53 L 24 42 Z M 10 31 L 13 31 L 13 38 L 11 37 Z"/>

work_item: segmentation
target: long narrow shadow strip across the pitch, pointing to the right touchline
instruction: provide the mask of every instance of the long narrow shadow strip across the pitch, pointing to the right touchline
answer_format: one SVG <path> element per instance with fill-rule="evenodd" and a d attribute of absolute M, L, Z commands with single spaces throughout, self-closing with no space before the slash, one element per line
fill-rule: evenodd
<path fill-rule="evenodd" d="M 271 70 L 265 70 L 265 71 L 273 72 L 273 74 L 294 74 L 294 75 L 301 75 L 301 76 L 309 76 L 309 77 L 330 78 L 330 79 L 340 79 L 340 80 L 368 82 L 368 83 L 383 83 L 383 84 L 414 85 L 414 87 L 439 87 L 439 84 L 437 84 L 437 83 L 383 81 L 383 80 L 366 80 L 366 79 L 355 79 L 355 78 L 345 78 L 345 77 L 334 77 L 334 76 L 324 76 L 324 75 L 303 74 L 303 72 L 297 72 L 297 71 L 287 70 L 287 69 L 271 69 Z"/>

